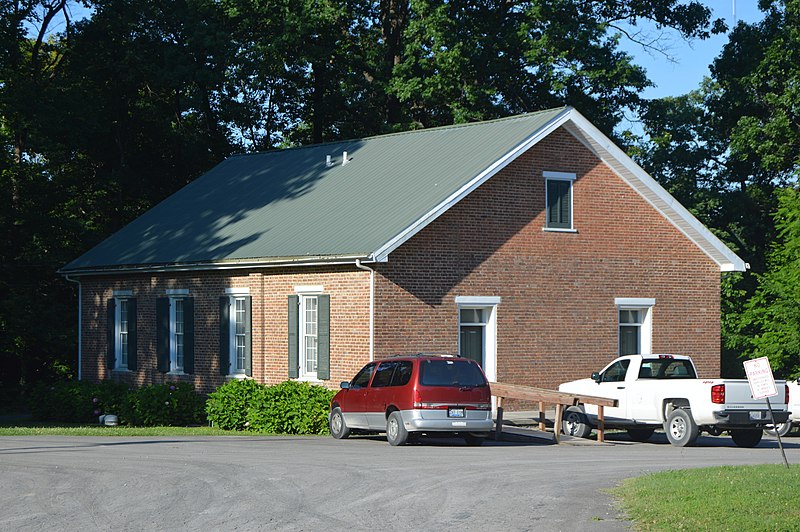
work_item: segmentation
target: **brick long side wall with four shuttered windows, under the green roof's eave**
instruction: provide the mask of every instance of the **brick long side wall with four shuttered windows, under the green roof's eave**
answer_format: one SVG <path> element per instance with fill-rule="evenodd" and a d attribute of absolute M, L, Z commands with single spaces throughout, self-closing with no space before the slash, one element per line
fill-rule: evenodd
<path fill-rule="evenodd" d="M 331 301 L 331 379 L 349 380 L 369 360 L 369 273 L 355 267 L 137 274 L 87 277 L 83 289 L 82 372 L 87 380 L 113 378 L 136 385 L 186 381 L 203 392 L 225 382 L 219 373 L 219 298 L 226 288 L 248 287 L 253 302 L 253 378 L 277 384 L 288 378 L 288 300 L 295 286 L 322 285 Z M 195 373 L 165 375 L 156 367 L 155 301 L 167 289 L 188 289 L 194 298 Z M 106 304 L 114 290 L 131 290 L 137 301 L 138 371 L 106 368 Z"/>

